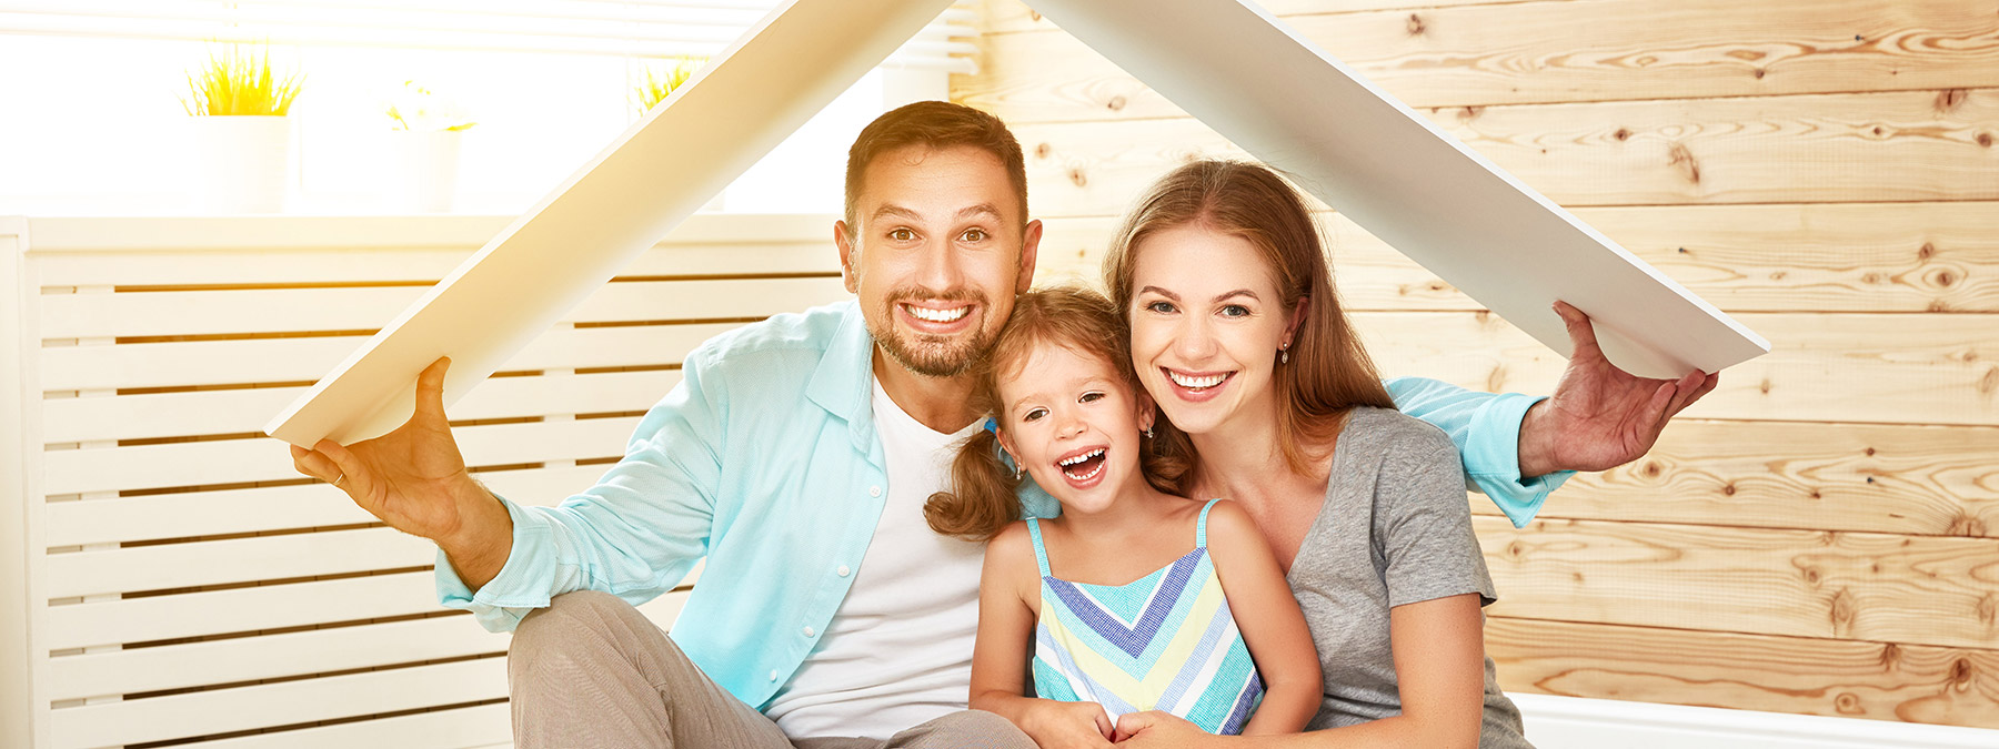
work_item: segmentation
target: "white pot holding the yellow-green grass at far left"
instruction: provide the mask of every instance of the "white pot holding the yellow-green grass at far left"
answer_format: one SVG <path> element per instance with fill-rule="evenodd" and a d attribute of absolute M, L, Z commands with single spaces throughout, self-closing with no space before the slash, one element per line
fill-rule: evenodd
<path fill-rule="evenodd" d="M 190 118 L 190 208 L 204 214 L 280 214 L 298 184 L 292 118 Z"/>

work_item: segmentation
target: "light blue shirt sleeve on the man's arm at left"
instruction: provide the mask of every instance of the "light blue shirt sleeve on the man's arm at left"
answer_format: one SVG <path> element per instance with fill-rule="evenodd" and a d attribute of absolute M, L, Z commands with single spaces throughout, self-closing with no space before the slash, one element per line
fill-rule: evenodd
<path fill-rule="evenodd" d="M 680 385 L 646 411 L 596 485 L 556 507 L 502 499 L 514 547 L 492 581 L 472 591 L 440 549 L 438 601 L 510 631 L 562 593 L 594 589 L 640 605 L 674 589 L 708 553 L 722 477 L 722 393 L 704 389 L 698 360 L 688 356 Z"/>

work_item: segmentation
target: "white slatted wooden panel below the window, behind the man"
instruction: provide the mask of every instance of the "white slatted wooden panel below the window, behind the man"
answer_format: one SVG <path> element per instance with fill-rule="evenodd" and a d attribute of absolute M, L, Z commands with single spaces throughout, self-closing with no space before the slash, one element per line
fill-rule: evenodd
<path fill-rule="evenodd" d="M 510 741 L 508 637 L 434 547 L 258 435 L 506 222 L 0 218 L 0 745 Z M 848 296 L 830 226 L 690 220 L 450 407 L 468 463 L 590 485 L 690 348 Z"/>

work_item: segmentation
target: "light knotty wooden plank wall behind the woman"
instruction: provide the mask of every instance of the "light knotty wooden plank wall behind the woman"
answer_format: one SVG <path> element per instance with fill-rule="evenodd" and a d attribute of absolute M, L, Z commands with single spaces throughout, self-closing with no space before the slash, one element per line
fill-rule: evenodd
<path fill-rule="evenodd" d="M 1471 497 L 1507 689 L 1999 727 L 1999 2 L 1269 8 L 1773 344 L 1525 529 Z M 952 96 L 1027 150 L 1043 282 L 1095 278 L 1167 168 L 1241 156 L 1017 0 L 986 14 Z M 1557 354 L 1325 224 L 1387 374 L 1553 387 Z"/>

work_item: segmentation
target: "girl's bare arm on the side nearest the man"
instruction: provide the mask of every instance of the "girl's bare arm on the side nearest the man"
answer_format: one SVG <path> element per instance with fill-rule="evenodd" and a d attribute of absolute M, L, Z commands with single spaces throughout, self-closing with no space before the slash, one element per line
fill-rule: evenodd
<path fill-rule="evenodd" d="M 1037 569 L 1025 523 L 1007 525 L 986 543 L 970 707 L 1013 721 L 1041 749 L 1109 747 L 1111 719 L 1103 705 L 1027 697 L 1027 663 L 1033 657 L 1027 647 L 1035 621 L 1027 601 L 1041 593 Z"/>

